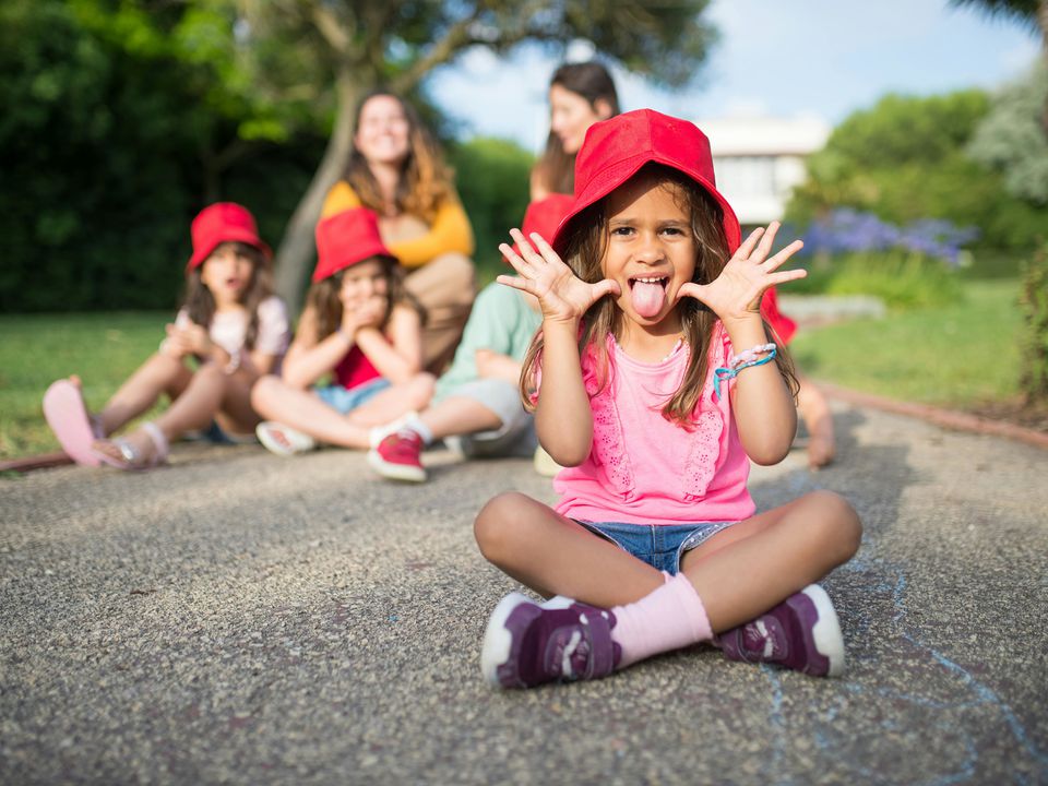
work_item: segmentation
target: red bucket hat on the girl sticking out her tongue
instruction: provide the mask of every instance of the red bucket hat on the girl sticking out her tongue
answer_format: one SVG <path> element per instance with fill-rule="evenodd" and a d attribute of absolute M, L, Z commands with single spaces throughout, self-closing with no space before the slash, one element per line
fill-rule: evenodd
<path fill-rule="evenodd" d="M 717 191 L 710 140 L 687 120 L 654 109 L 635 109 L 590 127 L 575 158 L 575 198 L 553 237 L 552 247 L 563 253 L 565 229 L 583 210 L 607 196 L 648 163 L 664 164 L 683 172 L 713 196 L 724 210 L 724 234 L 729 253 L 742 241 L 739 219 Z"/>

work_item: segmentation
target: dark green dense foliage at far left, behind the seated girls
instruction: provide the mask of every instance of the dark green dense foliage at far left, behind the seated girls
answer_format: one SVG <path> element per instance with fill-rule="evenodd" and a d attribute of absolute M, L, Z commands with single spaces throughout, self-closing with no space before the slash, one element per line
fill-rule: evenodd
<path fill-rule="evenodd" d="M 190 56 L 214 20 L 133 0 L 0 4 L 0 308 L 172 306 L 190 219 L 214 199 L 243 199 L 278 237 L 318 138 L 295 131 L 301 117 L 279 145 L 250 138 L 275 115 Z"/>

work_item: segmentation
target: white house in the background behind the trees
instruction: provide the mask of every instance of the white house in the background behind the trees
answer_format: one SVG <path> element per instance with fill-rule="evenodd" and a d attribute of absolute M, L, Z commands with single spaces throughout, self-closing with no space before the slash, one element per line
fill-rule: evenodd
<path fill-rule="evenodd" d="M 805 159 L 822 150 L 831 128 L 815 117 L 725 117 L 695 120 L 710 138 L 717 189 L 743 226 L 783 217 Z"/>

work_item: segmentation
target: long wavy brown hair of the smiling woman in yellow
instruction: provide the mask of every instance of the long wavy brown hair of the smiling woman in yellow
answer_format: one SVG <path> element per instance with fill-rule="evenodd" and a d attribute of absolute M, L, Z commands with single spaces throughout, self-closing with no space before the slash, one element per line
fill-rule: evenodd
<path fill-rule="evenodd" d="M 372 98 L 389 96 L 401 105 L 404 117 L 407 119 L 407 157 L 401 165 L 401 177 L 393 195 L 397 213 L 415 215 L 424 221 L 431 222 L 440 205 L 454 194 L 452 172 L 444 163 L 443 155 L 422 124 L 415 108 L 401 96 L 385 90 L 376 90 L 368 93 L 357 105 L 357 116 L 354 121 L 354 136 L 360 130 L 360 115 L 364 107 Z M 346 165 L 344 179 L 353 187 L 365 207 L 370 207 L 380 216 L 386 214 L 385 200 L 379 189 L 379 183 L 371 174 L 368 159 L 353 145 L 349 163 Z"/>

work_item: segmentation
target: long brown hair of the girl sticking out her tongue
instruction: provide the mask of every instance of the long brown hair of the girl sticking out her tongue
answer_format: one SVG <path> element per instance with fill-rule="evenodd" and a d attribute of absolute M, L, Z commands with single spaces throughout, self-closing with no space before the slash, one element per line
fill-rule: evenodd
<path fill-rule="evenodd" d="M 728 241 L 724 234 L 724 212 L 720 205 L 694 180 L 671 167 L 660 164 L 646 164 L 631 178 L 651 178 L 658 187 L 667 188 L 691 217 L 691 229 L 695 237 L 695 272 L 691 281 L 695 284 L 708 284 L 714 281 L 727 264 Z M 621 187 L 620 187 L 621 188 Z M 569 225 L 569 236 L 564 246 L 564 261 L 582 281 L 596 284 L 604 272 L 600 263 L 607 251 L 608 218 L 607 196 L 580 213 Z M 688 368 L 680 386 L 663 406 L 663 417 L 690 428 L 695 407 L 700 405 L 706 381 L 710 347 L 717 330 L 718 319 L 713 311 L 692 297 L 681 298 L 677 308 L 684 334 L 684 341 L 691 347 Z M 609 381 L 608 350 L 605 337 L 611 333 L 617 340 L 622 334 L 622 311 L 615 297 L 606 295 L 597 300 L 583 314 L 582 330 L 579 336 L 579 353 L 582 357 L 593 353 L 596 359 L 597 380 L 603 389 Z M 762 321 L 764 321 L 762 319 Z M 723 330 L 723 329 L 720 329 Z M 764 331 L 773 335 L 764 321 Z M 537 372 L 541 365 L 543 334 L 535 335 L 524 357 L 521 372 L 521 395 L 525 404 L 537 384 Z M 797 395 L 797 376 L 793 360 L 784 346 L 776 350 L 775 362 L 785 377 L 793 395 Z"/>

